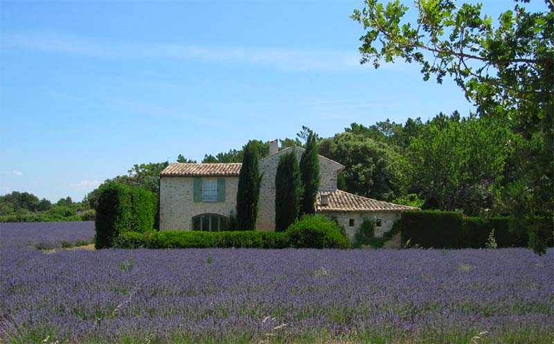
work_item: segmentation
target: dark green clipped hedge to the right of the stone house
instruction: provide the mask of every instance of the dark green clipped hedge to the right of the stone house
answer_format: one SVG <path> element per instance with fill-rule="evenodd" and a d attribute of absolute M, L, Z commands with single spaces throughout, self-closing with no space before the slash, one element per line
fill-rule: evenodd
<path fill-rule="evenodd" d="M 541 220 L 542 234 L 552 246 L 548 221 Z M 436 210 L 406 211 L 400 219 L 402 246 L 406 242 L 424 248 L 485 248 L 488 236 L 494 229 L 494 239 L 500 247 L 526 247 L 528 233 L 525 228 L 511 229 L 509 217 L 463 217 L 459 212 Z"/>

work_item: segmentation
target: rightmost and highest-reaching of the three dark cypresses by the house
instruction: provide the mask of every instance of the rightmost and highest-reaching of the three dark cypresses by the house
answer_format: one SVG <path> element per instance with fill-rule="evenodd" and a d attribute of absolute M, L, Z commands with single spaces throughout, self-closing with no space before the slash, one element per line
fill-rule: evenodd
<path fill-rule="evenodd" d="M 317 154 L 316 134 L 310 131 L 306 140 L 306 150 L 300 159 L 302 180 L 301 215 L 314 214 L 317 190 L 319 189 L 319 156 Z"/>

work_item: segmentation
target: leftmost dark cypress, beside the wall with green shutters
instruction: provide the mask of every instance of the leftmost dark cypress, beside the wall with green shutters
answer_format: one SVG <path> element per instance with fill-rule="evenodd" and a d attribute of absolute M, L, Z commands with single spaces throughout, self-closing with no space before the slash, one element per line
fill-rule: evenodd
<path fill-rule="evenodd" d="M 258 199 L 262 176 L 258 168 L 258 150 L 250 142 L 244 147 L 237 191 L 238 230 L 256 230 Z"/>

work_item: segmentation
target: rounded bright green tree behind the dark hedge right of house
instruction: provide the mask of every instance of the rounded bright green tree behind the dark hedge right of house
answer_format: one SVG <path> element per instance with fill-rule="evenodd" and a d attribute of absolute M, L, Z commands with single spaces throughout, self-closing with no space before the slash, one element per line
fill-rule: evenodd
<path fill-rule="evenodd" d="M 425 208 L 477 215 L 492 208 L 490 189 L 501 183 L 515 136 L 497 120 L 454 116 L 430 122 L 411 141 L 406 174 Z"/>

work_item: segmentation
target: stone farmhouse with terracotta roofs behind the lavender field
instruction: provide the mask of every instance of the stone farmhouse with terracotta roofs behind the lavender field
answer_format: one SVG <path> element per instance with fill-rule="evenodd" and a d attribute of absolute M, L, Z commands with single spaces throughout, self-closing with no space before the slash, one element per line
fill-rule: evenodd
<path fill-rule="evenodd" d="M 271 141 L 269 155 L 260 159 L 262 183 L 258 202 L 258 230 L 275 229 L 275 175 L 282 154 L 296 150 L 300 160 L 304 149 L 278 150 Z M 235 212 L 240 163 L 172 163 L 160 174 L 161 230 L 222 230 Z M 337 176 L 344 166 L 319 156 L 320 185 L 316 212 L 337 219 L 353 238 L 364 219 L 375 221 L 375 235 L 391 229 L 409 206 L 377 201 L 337 189 Z"/>

